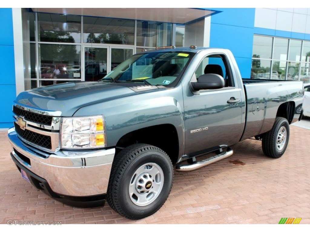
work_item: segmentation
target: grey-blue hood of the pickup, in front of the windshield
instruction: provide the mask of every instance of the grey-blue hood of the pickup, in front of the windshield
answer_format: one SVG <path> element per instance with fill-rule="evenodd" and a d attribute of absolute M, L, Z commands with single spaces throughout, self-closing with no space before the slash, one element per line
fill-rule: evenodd
<path fill-rule="evenodd" d="M 72 116 L 82 106 L 131 94 L 135 91 L 121 83 L 77 82 L 22 92 L 15 103 L 39 110 L 61 111 L 61 116 Z"/>

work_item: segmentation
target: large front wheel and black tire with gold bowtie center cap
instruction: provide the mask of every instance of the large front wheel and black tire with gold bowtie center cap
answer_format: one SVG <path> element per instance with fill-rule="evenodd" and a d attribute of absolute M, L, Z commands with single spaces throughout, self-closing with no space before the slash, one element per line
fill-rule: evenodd
<path fill-rule="evenodd" d="M 173 167 L 168 155 L 152 145 L 134 144 L 114 158 L 107 202 L 128 219 L 148 217 L 165 203 L 172 182 Z"/>

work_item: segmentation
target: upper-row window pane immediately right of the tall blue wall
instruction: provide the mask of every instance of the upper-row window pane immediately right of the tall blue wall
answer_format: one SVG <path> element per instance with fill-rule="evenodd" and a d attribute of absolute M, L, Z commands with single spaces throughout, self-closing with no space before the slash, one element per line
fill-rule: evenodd
<path fill-rule="evenodd" d="M 253 38 L 253 58 L 271 59 L 272 37 L 257 36 Z"/>

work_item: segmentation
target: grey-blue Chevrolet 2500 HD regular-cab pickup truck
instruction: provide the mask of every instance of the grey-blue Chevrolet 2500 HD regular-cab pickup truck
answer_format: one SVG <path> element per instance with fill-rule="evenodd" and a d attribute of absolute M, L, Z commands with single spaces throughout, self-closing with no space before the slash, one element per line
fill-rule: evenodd
<path fill-rule="evenodd" d="M 241 79 L 227 49 L 157 48 L 96 82 L 20 93 L 11 158 L 23 178 L 65 204 L 107 200 L 141 219 L 165 203 L 175 170 L 229 157 L 241 140 L 262 140 L 266 156 L 281 157 L 302 101 L 302 82 Z"/>

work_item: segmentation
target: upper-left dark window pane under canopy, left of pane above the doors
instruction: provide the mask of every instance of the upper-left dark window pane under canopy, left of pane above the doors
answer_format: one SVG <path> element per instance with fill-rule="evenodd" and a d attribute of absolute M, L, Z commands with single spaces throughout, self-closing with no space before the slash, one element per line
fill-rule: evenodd
<path fill-rule="evenodd" d="M 38 14 L 39 41 L 81 43 L 81 16 Z"/>

